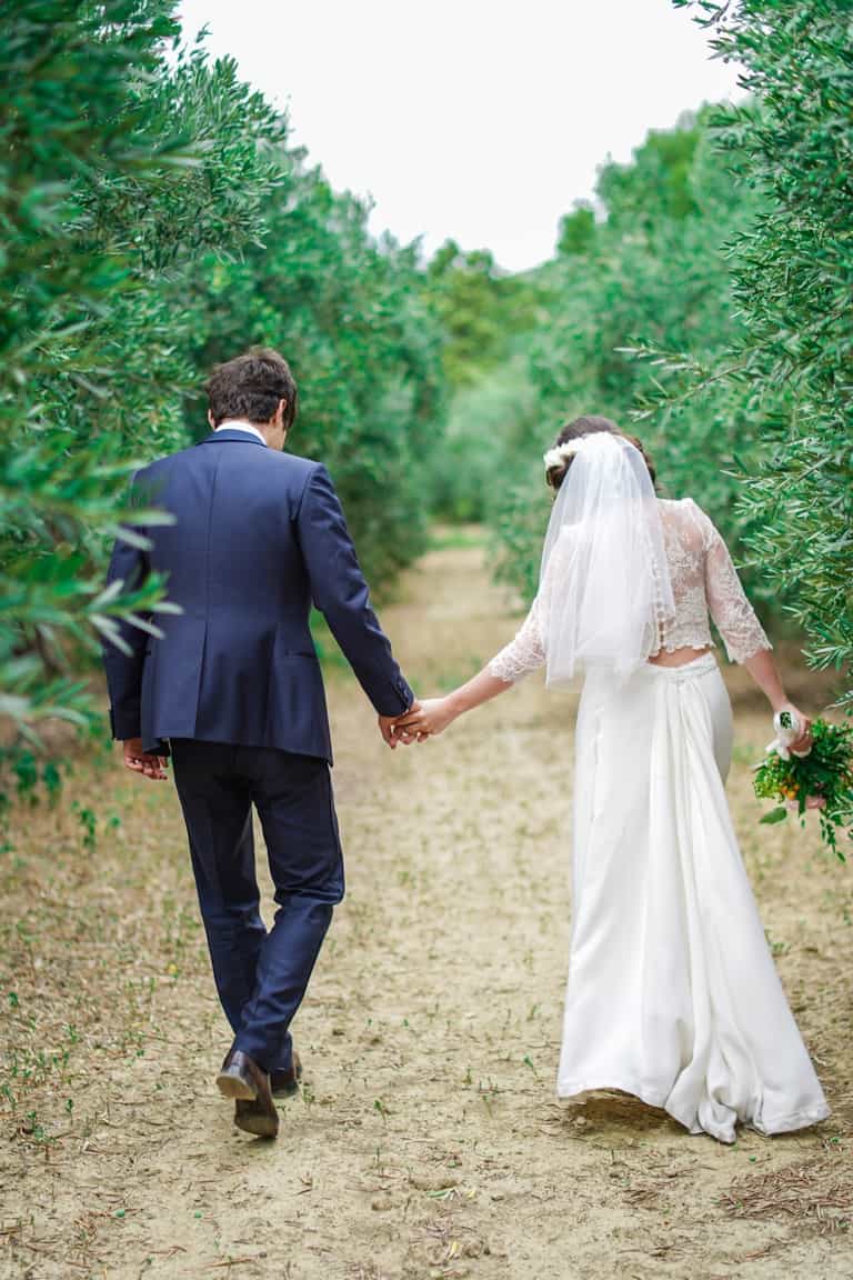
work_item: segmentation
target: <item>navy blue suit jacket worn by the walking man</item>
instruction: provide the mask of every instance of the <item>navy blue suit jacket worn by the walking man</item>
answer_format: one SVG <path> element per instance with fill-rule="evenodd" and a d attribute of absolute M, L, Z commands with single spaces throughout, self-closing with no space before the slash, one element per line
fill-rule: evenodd
<path fill-rule="evenodd" d="M 121 623 L 129 654 L 104 646 L 114 737 L 159 754 L 189 737 L 331 762 L 312 600 L 376 710 L 409 708 L 325 467 L 225 428 L 139 471 L 134 500 L 175 524 L 142 529 L 147 550 L 119 539 L 109 581 L 162 573 L 182 612 L 156 616 L 161 639 Z"/>

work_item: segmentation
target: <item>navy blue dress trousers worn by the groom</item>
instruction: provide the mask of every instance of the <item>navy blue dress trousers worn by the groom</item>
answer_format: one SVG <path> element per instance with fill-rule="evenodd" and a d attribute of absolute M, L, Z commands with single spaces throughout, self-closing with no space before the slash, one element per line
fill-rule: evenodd
<path fill-rule="evenodd" d="M 289 1027 L 306 993 L 344 867 L 325 760 L 272 748 L 171 739 L 214 979 L 237 1048 L 288 1070 Z M 254 874 L 252 805 L 278 910 L 266 931 Z"/>

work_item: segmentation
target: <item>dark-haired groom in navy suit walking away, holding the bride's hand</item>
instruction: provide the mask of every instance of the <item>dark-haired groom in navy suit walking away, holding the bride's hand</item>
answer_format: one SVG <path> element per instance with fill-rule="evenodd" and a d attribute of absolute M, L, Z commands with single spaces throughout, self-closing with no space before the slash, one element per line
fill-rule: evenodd
<path fill-rule="evenodd" d="M 121 623 L 105 645 L 113 736 L 124 762 L 165 778 L 171 754 L 201 914 L 225 1015 L 234 1029 L 217 1084 L 235 1124 L 274 1137 L 274 1096 L 301 1074 L 290 1021 L 304 996 L 344 869 L 331 792 L 331 742 L 311 602 L 379 713 L 389 746 L 413 707 L 370 605 L 325 467 L 281 452 L 297 412 L 286 362 L 256 349 L 215 370 L 211 434 L 138 472 L 134 503 L 173 524 L 119 538 L 109 581 L 168 580 L 180 612 L 162 635 Z M 137 539 L 138 541 L 138 539 Z M 258 913 L 252 806 L 278 910 Z"/>

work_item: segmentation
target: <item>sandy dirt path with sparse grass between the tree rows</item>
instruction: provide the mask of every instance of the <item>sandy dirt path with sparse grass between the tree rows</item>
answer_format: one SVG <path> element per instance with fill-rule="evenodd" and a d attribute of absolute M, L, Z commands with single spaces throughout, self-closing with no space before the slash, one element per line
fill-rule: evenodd
<path fill-rule="evenodd" d="M 382 617 L 422 691 L 514 630 L 476 544 L 432 552 Z M 572 696 L 535 678 L 390 755 L 341 678 L 349 891 L 275 1144 L 238 1134 L 212 1087 L 229 1037 L 171 788 L 104 758 L 68 783 L 78 812 L 15 814 L 0 1276 L 850 1276 L 850 874 L 813 835 L 756 826 L 747 764 L 767 719 L 732 687 L 732 803 L 830 1121 L 725 1148 L 630 1100 L 558 1105 Z"/>

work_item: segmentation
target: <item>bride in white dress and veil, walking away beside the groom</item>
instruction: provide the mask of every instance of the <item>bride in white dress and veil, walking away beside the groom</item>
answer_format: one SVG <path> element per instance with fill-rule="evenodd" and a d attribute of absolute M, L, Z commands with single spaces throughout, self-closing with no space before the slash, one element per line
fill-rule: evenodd
<path fill-rule="evenodd" d="M 575 731 L 573 924 L 560 1097 L 619 1089 L 691 1133 L 734 1142 L 829 1115 L 788 1007 L 725 800 L 729 658 L 774 710 L 770 643 L 720 534 L 691 499 L 659 499 L 639 440 L 579 417 L 545 454 L 556 490 L 540 590 L 515 639 L 468 684 L 399 722 L 441 733 L 545 666 L 584 673 Z"/>

